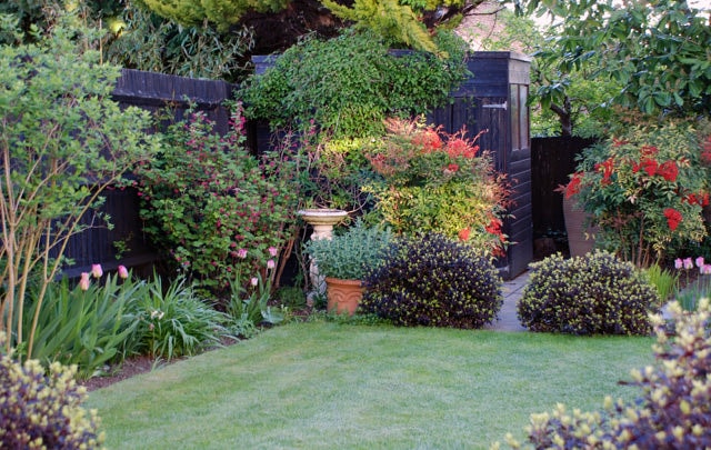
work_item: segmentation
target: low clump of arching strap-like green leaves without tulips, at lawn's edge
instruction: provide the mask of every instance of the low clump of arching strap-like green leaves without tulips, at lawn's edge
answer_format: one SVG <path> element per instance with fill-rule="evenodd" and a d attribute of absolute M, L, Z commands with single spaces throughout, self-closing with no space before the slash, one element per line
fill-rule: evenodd
<path fill-rule="evenodd" d="M 148 296 L 134 298 L 127 309 L 136 327 L 128 348 L 171 360 L 220 344 L 226 334 L 224 314 L 198 298 L 184 278 L 163 288 L 162 279 L 154 274 L 148 286 Z"/>

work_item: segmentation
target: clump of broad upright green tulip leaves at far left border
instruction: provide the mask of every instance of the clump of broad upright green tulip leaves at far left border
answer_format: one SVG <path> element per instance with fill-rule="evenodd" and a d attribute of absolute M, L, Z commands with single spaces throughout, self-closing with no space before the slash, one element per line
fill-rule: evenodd
<path fill-rule="evenodd" d="M 89 274 L 82 277 L 89 284 Z M 127 307 L 148 293 L 144 282 L 119 281 L 117 274 L 108 274 L 103 284 L 87 284 L 72 288 L 64 278 L 49 286 L 38 314 L 33 349 L 34 358 L 46 367 L 54 361 L 76 364 L 82 379 L 96 376 L 104 364 L 123 360 L 124 344 L 134 328 Z M 37 297 L 32 292 L 30 298 Z M 30 329 L 37 307 L 36 300 L 29 302 L 31 316 L 26 316 L 23 330 Z"/>

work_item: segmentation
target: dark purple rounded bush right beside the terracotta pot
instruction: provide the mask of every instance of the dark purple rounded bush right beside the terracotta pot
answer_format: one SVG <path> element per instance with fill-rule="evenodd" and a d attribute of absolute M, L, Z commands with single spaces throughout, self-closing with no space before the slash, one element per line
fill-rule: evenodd
<path fill-rule="evenodd" d="M 490 259 L 441 234 L 401 238 L 365 279 L 364 312 L 400 326 L 481 328 L 503 303 Z"/>

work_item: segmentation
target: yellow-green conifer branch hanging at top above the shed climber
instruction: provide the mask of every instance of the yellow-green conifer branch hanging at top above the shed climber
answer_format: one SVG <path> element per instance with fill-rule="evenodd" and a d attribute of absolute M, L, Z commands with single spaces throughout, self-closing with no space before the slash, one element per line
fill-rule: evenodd
<path fill-rule="evenodd" d="M 371 29 L 392 42 L 438 53 L 438 48 L 417 12 L 398 0 L 356 0 L 352 8 L 332 0 L 321 0 L 333 14 L 351 20 L 359 28 Z"/>

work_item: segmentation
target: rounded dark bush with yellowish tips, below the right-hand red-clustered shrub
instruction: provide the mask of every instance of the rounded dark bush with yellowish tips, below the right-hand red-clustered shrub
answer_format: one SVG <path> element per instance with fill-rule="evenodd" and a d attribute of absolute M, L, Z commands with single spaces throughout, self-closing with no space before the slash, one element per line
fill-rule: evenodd
<path fill-rule="evenodd" d="M 649 334 L 655 288 L 630 262 L 595 251 L 531 264 L 518 317 L 531 331 L 570 334 Z"/>

